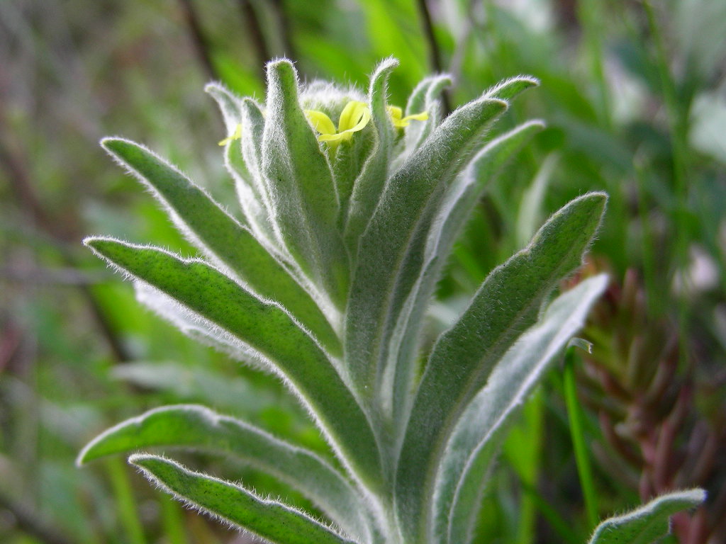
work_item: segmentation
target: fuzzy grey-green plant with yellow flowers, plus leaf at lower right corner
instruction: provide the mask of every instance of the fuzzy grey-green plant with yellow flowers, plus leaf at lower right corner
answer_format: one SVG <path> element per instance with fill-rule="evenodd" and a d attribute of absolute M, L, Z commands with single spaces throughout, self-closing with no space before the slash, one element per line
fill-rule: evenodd
<path fill-rule="evenodd" d="M 606 197 L 585 194 L 552 215 L 489 274 L 453 326 L 422 345 L 454 239 L 542 123 L 489 137 L 510 100 L 537 84 L 529 77 L 499 83 L 442 119 L 449 78 L 436 75 L 404 112 L 386 102 L 395 66 L 378 66 L 367 96 L 300 86 L 286 60 L 267 66 L 264 106 L 208 86 L 230 134 L 221 143 L 241 219 L 144 147 L 105 139 L 203 257 L 85 241 L 187 334 L 280 376 L 339 463 L 194 405 L 109 429 L 79 463 L 151 447 L 227 453 L 287 482 L 327 520 L 163 456 L 129 461 L 180 500 L 272 543 L 472 539 L 507 424 L 605 288 L 597 276 L 551 298 L 580 265 Z M 650 542 L 667 532 L 670 514 L 701 500 L 699 490 L 666 495 L 605 522 L 592 541 Z"/>

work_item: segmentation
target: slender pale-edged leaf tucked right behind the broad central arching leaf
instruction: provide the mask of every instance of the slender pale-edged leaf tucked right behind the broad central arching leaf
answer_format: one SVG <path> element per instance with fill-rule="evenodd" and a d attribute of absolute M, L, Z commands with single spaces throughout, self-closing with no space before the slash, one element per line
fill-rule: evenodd
<path fill-rule="evenodd" d="M 390 360 L 394 383 L 393 417 L 399 424 L 405 424 L 411 408 L 412 382 L 415 379 L 415 350 L 421 327 L 424 323 L 426 308 L 433 296 L 436 282 L 441 276 L 441 268 L 446 263 L 452 246 L 474 207 L 481 199 L 486 188 L 496 179 L 507 160 L 529 141 L 534 133 L 542 130 L 542 123 L 530 121 L 486 144 L 484 149 L 471 161 L 466 171 L 456 181 L 456 186 L 448 192 L 442 207 L 441 221 L 434 225 L 428 241 L 425 267 L 409 301 L 396 323 L 396 334 L 391 337 L 392 353 Z"/>

